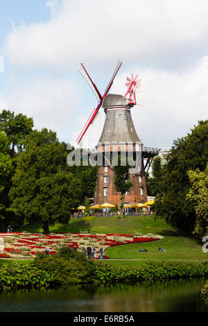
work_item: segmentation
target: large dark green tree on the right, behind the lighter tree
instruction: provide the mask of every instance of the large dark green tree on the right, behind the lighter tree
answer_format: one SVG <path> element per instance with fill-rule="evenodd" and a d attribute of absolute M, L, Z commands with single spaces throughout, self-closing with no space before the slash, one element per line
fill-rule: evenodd
<path fill-rule="evenodd" d="M 196 212 L 186 200 L 191 188 L 187 172 L 205 171 L 208 160 L 208 121 L 198 121 L 186 137 L 173 142 L 162 168 L 162 181 L 156 196 L 156 216 L 164 216 L 177 228 L 193 231 Z"/>

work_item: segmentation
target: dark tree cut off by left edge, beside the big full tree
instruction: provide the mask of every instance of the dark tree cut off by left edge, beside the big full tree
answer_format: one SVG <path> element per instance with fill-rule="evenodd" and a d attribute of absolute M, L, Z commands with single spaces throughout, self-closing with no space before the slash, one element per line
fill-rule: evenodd
<path fill-rule="evenodd" d="M 6 209 L 10 206 L 8 191 L 10 189 L 10 180 L 15 167 L 8 154 L 9 141 L 3 132 L 0 132 L 0 226 L 1 230 L 6 228 Z"/>

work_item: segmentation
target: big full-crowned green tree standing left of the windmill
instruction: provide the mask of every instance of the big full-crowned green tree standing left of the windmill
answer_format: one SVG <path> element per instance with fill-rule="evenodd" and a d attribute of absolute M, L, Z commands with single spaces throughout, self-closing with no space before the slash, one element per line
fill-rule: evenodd
<path fill-rule="evenodd" d="M 67 223 L 71 209 L 80 204 L 80 180 L 67 166 L 67 151 L 51 130 L 31 132 L 17 160 L 12 178 L 11 209 L 24 224 L 41 223 L 44 233 L 55 222 Z"/>

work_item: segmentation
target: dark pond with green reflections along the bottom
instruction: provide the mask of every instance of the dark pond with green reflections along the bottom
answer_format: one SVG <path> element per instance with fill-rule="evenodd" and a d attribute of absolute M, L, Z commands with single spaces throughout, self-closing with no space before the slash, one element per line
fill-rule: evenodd
<path fill-rule="evenodd" d="M 3 312 L 208 312 L 205 279 L 143 284 L 64 286 L 0 294 Z"/>

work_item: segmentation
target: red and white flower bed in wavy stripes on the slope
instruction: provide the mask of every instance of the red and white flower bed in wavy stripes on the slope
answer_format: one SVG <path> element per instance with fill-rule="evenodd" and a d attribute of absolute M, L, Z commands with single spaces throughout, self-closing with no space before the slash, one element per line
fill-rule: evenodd
<path fill-rule="evenodd" d="M 154 234 L 138 236 L 137 234 L 82 234 L 82 233 L 67 233 L 67 234 L 37 234 L 26 232 L 0 233 L 3 238 L 4 248 L 7 257 L 33 257 L 40 252 L 45 252 L 46 246 L 50 247 L 50 255 L 54 255 L 60 248 L 64 246 L 76 247 L 82 250 L 83 247 L 93 246 L 98 253 L 99 248 L 119 246 L 128 243 L 144 243 L 157 241 L 163 237 Z M 7 255 L 9 253 L 9 255 Z M 1 256 L 0 255 L 0 258 Z M 99 255 L 97 255 L 99 258 Z M 103 255 L 107 259 L 106 255 Z"/>

